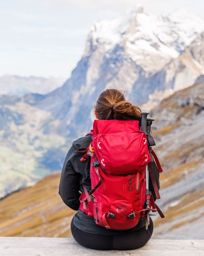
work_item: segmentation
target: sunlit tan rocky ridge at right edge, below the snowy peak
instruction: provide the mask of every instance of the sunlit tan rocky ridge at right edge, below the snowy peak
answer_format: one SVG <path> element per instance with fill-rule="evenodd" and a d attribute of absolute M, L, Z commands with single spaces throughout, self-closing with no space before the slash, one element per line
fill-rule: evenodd
<path fill-rule="evenodd" d="M 197 81 L 204 81 L 204 32 L 196 37 L 176 59 L 172 59 L 159 72 L 149 77 L 147 84 L 157 90 L 149 95 L 150 100 L 162 98 L 163 94 L 184 89 Z M 162 89 L 166 85 L 165 90 Z M 159 88 L 160 86 L 160 88 Z"/>

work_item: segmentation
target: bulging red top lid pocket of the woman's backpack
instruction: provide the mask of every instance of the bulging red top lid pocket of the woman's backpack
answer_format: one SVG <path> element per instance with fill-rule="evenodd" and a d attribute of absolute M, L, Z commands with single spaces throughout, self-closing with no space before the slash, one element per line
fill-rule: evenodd
<path fill-rule="evenodd" d="M 140 172 L 151 160 L 142 131 L 96 134 L 93 147 L 104 171 L 112 175 Z"/>

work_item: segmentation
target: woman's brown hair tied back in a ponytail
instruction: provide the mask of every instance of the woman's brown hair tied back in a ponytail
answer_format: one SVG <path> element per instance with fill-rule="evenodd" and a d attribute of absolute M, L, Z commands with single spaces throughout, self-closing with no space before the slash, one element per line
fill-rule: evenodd
<path fill-rule="evenodd" d="M 139 120 L 141 109 L 125 100 L 124 92 L 107 89 L 98 97 L 95 108 L 98 119 Z"/>

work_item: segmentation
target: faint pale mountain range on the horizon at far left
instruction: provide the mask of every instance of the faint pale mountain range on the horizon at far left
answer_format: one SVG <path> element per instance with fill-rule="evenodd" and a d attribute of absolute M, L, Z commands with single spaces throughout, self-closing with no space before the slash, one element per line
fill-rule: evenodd
<path fill-rule="evenodd" d="M 36 76 L 0 76 L 0 94 L 25 95 L 29 92 L 46 94 L 62 86 L 62 78 Z"/>

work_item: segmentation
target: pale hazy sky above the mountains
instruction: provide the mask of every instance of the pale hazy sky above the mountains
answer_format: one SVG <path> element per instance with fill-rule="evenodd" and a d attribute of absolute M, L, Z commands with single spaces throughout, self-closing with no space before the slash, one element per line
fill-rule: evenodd
<path fill-rule="evenodd" d="M 141 2 L 155 14 L 186 9 L 204 18 L 201 0 L 0 0 L 0 76 L 68 78 L 92 22 L 114 18 Z"/>

